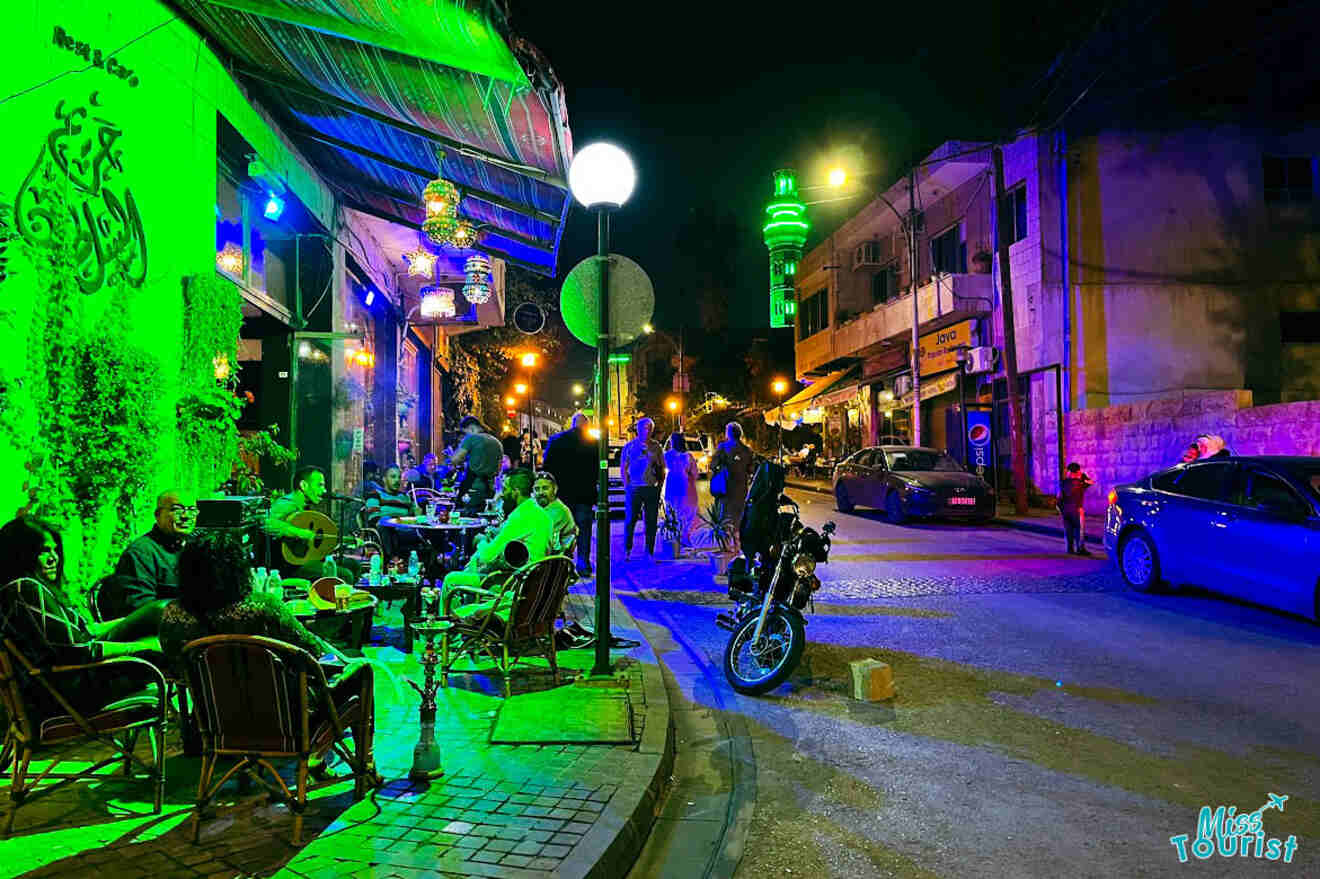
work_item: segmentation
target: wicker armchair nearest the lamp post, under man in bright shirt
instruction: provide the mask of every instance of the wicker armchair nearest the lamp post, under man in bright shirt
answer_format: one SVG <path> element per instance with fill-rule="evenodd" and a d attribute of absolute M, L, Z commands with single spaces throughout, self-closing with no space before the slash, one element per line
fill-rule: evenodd
<path fill-rule="evenodd" d="M 440 685 L 449 686 L 449 672 L 463 657 L 486 655 L 495 663 L 504 678 L 504 698 L 510 697 L 510 673 L 519 661 L 529 656 L 544 656 L 550 664 L 554 682 L 560 682 L 560 665 L 554 655 L 554 620 L 560 615 L 569 585 L 577 570 L 569 556 L 548 556 L 504 577 L 496 589 L 494 574 L 482 587 L 458 586 L 446 591 L 445 616 L 453 628 L 441 636 Z M 507 619 L 496 611 L 500 599 L 512 593 L 513 603 Z M 467 616 L 454 616 L 450 602 L 474 597 L 490 607 Z M 457 639 L 458 644 L 454 645 Z"/>

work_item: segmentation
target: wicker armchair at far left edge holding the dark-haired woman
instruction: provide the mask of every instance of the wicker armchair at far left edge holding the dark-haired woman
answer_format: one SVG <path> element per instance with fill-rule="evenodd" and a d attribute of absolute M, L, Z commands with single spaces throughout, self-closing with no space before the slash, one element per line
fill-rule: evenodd
<path fill-rule="evenodd" d="M 61 686 L 74 676 L 84 674 L 91 682 L 103 681 L 106 692 L 121 686 L 127 680 L 141 684 L 140 692 L 107 701 L 92 710 L 74 706 Z M 62 713 L 38 714 L 36 694 L 44 692 Z M 133 777 L 135 764 L 153 784 L 152 812 L 160 814 L 165 796 L 165 678 L 160 669 L 147 660 L 121 656 L 79 665 L 37 668 L 11 640 L 0 645 L 0 703 L 4 705 L 9 726 L 0 746 L 0 765 L 12 762 L 9 785 L 9 812 L 4 821 L 4 835 L 13 830 L 18 808 L 34 793 L 49 793 L 78 779 L 104 777 L 96 775 L 107 765 L 120 764 L 124 776 Z M 49 703 L 49 702 L 48 702 Z M 152 746 L 152 764 L 135 755 L 137 738 L 147 731 Z M 98 742 L 111 750 L 111 755 L 78 772 L 55 772 L 65 759 L 62 752 L 87 742 Z M 28 777 L 33 758 L 50 758 L 46 769 Z M 45 785 L 48 780 L 54 784 Z M 38 789 L 38 785 L 40 787 Z"/>

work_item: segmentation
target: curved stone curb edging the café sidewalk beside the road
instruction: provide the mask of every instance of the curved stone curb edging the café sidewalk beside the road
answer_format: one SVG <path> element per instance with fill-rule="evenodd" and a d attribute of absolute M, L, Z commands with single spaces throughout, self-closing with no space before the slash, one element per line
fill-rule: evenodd
<path fill-rule="evenodd" d="M 632 614 L 618 599 L 610 602 L 610 630 L 619 637 L 640 641 L 640 647 L 627 655 L 642 665 L 647 718 L 638 746 L 638 759 L 643 765 L 630 765 L 628 776 L 618 779 L 619 788 L 610 808 L 597 818 L 554 872 L 564 879 L 618 879 L 627 875 L 651 834 L 660 795 L 673 773 L 673 715 L 669 711 L 669 693 L 660 672 L 660 660 Z M 636 759 L 630 759 L 630 763 L 635 764 Z"/>

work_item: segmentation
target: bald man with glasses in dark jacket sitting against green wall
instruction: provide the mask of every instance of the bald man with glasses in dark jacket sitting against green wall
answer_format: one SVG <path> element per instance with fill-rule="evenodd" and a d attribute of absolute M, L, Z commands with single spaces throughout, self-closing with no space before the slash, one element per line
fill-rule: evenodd
<path fill-rule="evenodd" d="M 104 619 L 178 598 L 178 553 L 197 525 L 197 502 L 178 491 L 156 499 L 156 525 L 128 544 L 98 597 Z"/>

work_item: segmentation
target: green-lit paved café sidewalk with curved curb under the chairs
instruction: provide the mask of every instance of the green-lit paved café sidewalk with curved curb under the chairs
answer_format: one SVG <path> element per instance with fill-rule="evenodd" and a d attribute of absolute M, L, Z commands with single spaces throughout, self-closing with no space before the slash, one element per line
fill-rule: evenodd
<path fill-rule="evenodd" d="M 570 618 L 589 612 L 590 589 L 576 587 Z M 639 641 L 612 651 L 610 688 L 631 705 L 631 744 L 490 744 L 503 703 L 499 676 L 455 673 L 438 696 L 446 775 L 411 783 L 418 696 L 404 678 L 420 681 L 420 665 L 393 647 L 368 647 L 378 663 L 376 760 L 387 784 L 359 802 L 348 784 L 318 792 L 308 804 L 302 849 L 289 842 L 286 808 L 264 802 L 205 822 L 194 846 L 189 806 L 199 760 L 181 756 L 172 740 L 164 814 L 150 814 L 140 781 L 66 787 L 18 813 L 15 835 L 0 842 L 0 875 L 620 876 L 649 831 L 673 765 L 673 738 L 655 652 L 618 601 L 612 619 L 616 636 Z M 591 661 L 591 649 L 560 653 L 566 676 L 585 674 Z M 513 677 L 513 698 L 550 686 L 548 673 L 524 670 Z M 570 706 L 572 690 L 587 686 L 598 684 L 556 692 Z M 8 805 L 3 791 L 0 797 Z"/>

